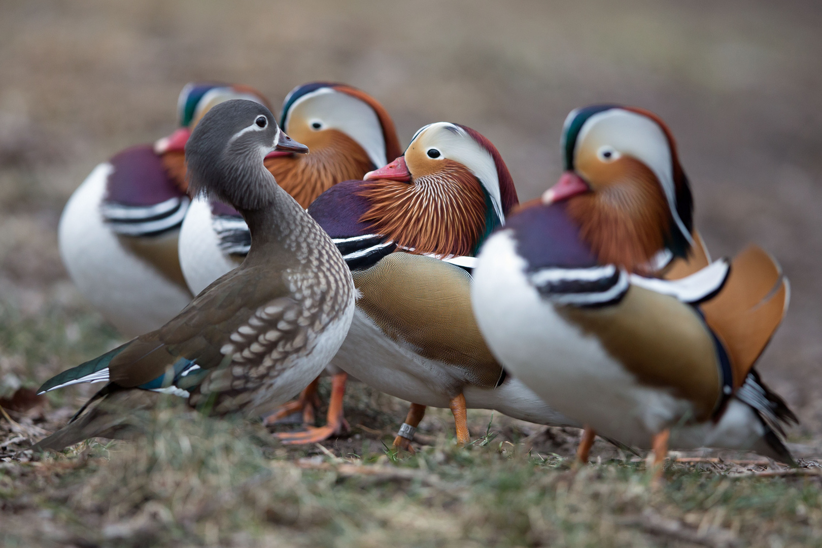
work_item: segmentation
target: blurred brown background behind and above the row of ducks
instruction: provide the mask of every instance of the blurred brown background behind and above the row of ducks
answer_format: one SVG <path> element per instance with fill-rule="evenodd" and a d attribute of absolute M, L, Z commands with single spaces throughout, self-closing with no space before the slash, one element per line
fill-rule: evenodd
<path fill-rule="evenodd" d="M 746 242 L 792 282 L 759 369 L 822 433 L 822 8 L 818 2 L 0 2 L 0 388 L 36 386 L 117 334 L 57 248 L 68 196 L 122 148 L 173 131 L 188 81 L 342 81 L 403 145 L 459 122 L 499 148 L 520 200 L 561 173 L 563 119 L 649 108 L 676 136 L 714 256 Z M 818 437 L 818 436 L 815 436 Z"/>

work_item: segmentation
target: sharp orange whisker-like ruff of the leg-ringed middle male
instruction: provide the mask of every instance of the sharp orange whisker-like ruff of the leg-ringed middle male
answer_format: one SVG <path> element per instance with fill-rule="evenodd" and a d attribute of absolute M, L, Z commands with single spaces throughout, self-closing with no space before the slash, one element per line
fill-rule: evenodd
<path fill-rule="evenodd" d="M 380 179 L 362 186 L 358 195 L 370 206 L 359 220 L 417 253 L 473 255 L 490 232 L 489 214 L 496 219 L 477 177 L 453 160 L 410 183 Z"/>

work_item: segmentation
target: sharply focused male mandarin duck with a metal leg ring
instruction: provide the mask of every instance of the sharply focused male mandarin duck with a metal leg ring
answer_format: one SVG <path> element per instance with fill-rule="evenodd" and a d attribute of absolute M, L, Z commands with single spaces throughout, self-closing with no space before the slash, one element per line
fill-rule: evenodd
<path fill-rule="evenodd" d="M 462 266 L 517 202 L 496 148 L 468 127 L 437 122 L 417 132 L 404 156 L 364 181 L 336 185 L 308 209 L 362 293 L 334 363 L 414 403 L 399 447 L 409 448 L 429 405 L 451 408 L 462 444 L 469 441 L 466 408 L 573 424 L 506 376 L 473 319 Z"/>

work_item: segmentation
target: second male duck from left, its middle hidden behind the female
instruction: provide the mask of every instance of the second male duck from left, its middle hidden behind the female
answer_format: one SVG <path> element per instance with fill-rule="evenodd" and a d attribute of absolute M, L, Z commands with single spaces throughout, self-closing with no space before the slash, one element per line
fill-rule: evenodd
<path fill-rule="evenodd" d="M 310 154 L 275 151 L 266 156 L 266 168 L 280 187 L 302 207 L 308 207 L 323 191 L 340 181 L 361 179 L 367 172 L 399 156 L 394 122 L 372 96 L 349 85 L 314 82 L 300 85 L 286 96 L 281 117 L 284 131 L 308 146 Z M 215 279 L 238 265 L 248 250 L 248 228 L 236 212 L 225 205 L 194 200 L 182 223 L 179 256 L 182 274 L 192 292 L 200 292 Z M 329 367 L 332 378 L 330 419 L 309 441 L 342 434 L 342 398 L 347 375 Z M 294 412 L 303 422 L 314 422 L 318 380 L 298 401 L 275 412 L 272 423 Z"/>

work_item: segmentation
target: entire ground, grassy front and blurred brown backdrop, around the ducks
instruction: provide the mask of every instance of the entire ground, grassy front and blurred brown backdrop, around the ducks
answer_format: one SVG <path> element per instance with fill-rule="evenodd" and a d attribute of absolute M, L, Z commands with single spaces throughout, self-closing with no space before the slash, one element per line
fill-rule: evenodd
<path fill-rule="evenodd" d="M 818 457 L 820 25 L 807 0 L 0 2 L 0 398 L 117 343 L 57 250 L 62 205 L 95 163 L 169 133 L 187 81 L 244 82 L 277 104 L 323 79 L 374 94 L 404 142 L 441 119 L 482 131 L 522 199 L 559 176 L 571 108 L 660 113 L 714 253 L 757 242 L 792 281 L 760 370 L 802 419 L 792 449 Z M 601 463 L 570 471 L 572 431 L 495 417 L 493 440 L 457 449 L 447 411 L 423 421 L 418 457 L 396 458 L 382 444 L 403 404 L 362 386 L 347 400 L 353 435 L 326 444 L 334 458 L 178 408 L 148 417 L 134 444 L 16 453 L 94 388 L 0 413 L 0 545 L 774 548 L 822 537 L 816 467 L 779 477 L 729 461 L 751 457 L 689 454 L 702 460 L 672 464 L 652 490 L 643 463 L 605 444 Z M 470 417 L 485 431 L 488 413 Z"/>

